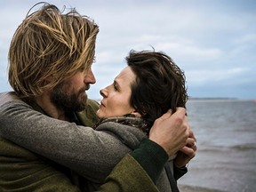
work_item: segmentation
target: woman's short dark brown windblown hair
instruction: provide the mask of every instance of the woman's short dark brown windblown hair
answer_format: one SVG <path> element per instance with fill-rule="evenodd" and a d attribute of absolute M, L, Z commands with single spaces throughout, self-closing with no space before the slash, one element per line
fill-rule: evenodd
<path fill-rule="evenodd" d="M 177 107 L 186 107 L 186 77 L 164 52 L 131 51 L 126 60 L 136 75 L 130 104 L 148 128 L 168 109 L 175 112 Z"/>

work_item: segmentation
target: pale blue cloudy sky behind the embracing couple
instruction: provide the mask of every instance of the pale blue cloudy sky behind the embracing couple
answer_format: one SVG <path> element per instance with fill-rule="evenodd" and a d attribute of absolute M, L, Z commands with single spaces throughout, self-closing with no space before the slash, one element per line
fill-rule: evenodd
<path fill-rule="evenodd" d="M 100 26 L 96 62 L 97 83 L 88 91 L 100 99 L 100 89 L 126 66 L 131 50 L 165 52 L 185 72 L 192 98 L 256 99 L 256 1 L 254 0 L 52 0 L 76 8 Z M 0 92 L 8 84 L 8 49 L 12 35 L 32 0 L 1 1 Z"/>

